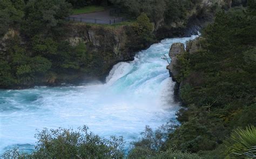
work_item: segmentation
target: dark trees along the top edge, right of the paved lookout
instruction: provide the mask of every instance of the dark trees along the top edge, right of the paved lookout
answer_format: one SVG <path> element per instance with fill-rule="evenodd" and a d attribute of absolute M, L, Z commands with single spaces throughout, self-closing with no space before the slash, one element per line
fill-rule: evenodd
<path fill-rule="evenodd" d="M 121 8 L 125 15 L 130 18 L 138 17 L 141 13 L 146 13 L 155 25 L 163 24 L 170 27 L 170 24 L 178 21 L 186 25 L 187 16 L 192 10 L 196 10 L 198 16 L 203 16 L 200 12 L 204 10 L 202 0 L 110 0 L 117 7 Z M 214 1 L 213 1 L 214 3 Z M 203 12 L 204 13 L 204 12 Z"/>

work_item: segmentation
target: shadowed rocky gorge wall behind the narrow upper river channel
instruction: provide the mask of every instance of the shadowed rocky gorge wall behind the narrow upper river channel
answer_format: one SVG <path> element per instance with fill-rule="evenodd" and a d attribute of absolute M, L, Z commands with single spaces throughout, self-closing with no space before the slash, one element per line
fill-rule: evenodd
<path fill-rule="evenodd" d="M 189 10 L 183 19 L 168 25 L 164 24 L 163 19 L 160 20 L 156 26 L 156 38 L 188 37 L 197 34 L 213 20 L 217 8 L 229 9 L 231 6 L 232 0 L 198 0 L 197 5 Z"/>

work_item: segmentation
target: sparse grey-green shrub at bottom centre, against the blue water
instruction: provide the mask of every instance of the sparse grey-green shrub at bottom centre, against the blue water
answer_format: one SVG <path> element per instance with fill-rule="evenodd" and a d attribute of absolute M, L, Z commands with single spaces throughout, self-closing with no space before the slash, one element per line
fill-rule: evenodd
<path fill-rule="evenodd" d="M 145 131 L 141 133 L 142 138 L 132 142 L 133 148 L 129 151 L 127 158 L 200 158 L 198 155 L 186 151 L 181 152 L 173 148 L 165 149 L 165 140 L 175 127 L 176 125 L 172 122 L 159 127 L 156 131 L 146 126 Z"/>

